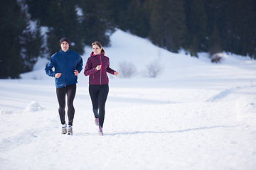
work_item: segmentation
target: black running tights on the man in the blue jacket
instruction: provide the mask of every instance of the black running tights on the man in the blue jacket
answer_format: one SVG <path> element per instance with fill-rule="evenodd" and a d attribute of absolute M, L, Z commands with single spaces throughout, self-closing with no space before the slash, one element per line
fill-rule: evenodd
<path fill-rule="evenodd" d="M 62 125 L 65 124 L 65 96 L 68 97 L 68 125 L 73 125 L 73 119 L 75 115 L 75 108 L 73 101 L 75 98 L 76 84 L 71 84 L 65 87 L 57 88 L 56 94 L 59 103 L 58 112 L 60 114 L 60 122 Z"/>

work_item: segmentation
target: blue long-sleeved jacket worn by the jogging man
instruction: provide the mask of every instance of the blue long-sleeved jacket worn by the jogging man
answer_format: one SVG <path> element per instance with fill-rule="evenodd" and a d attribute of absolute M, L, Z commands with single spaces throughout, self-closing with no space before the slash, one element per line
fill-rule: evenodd
<path fill-rule="evenodd" d="M 59 78 L 55 78 L 55 86 L 60 88 L 78 83 L 78 77 L 74 74 L 75 69 L 78 72 L 82 71 L 82 57 L 77 52 L 71 50 L 66 52 L 60 50 L 50 57 L 45 71 L 49 77 L 54 77 L 56 73 L 61 73 Z"/>

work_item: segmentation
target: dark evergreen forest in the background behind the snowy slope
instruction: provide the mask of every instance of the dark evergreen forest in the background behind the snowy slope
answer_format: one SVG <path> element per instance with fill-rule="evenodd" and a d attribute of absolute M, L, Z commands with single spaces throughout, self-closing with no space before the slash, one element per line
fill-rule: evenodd
<path fill-rule="evenodd" d="M 1 0 L 0 78 L 16 79 L 70 39 L 80 55 L 116 28 L 171 52 L 232 52 L 256 59 L 255 0 Z"/>

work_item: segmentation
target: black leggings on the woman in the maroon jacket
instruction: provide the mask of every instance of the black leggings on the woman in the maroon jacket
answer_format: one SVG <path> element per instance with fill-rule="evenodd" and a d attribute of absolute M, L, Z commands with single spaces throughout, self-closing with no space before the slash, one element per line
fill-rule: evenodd
<path fill-rule="evenodd" d="M 105 103 L 109 92 L 108 84 L 89 85 L 90 98 L 92 100 L 92 109 L 95 118 L 99 118 L 99 125 L 103 127 L 105 118 Z"/>

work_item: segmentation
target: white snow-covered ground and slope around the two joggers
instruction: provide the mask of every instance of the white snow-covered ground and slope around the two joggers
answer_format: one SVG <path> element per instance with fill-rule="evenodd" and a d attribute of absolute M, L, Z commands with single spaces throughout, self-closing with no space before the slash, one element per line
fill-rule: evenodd
<path fill-rule="evenodd" d="M 23 79 L 0 80 L 0 169 L 255 169 L 256 61 L 220 64 L 174 54 L 117 30 L 105 52 L 110 75 L 104 136 L 97 135 L 88 77 L 78 78 L 74 135 L 60 134 L 54 79 L 40 60 Z M 90 55 L 85 47 L 84 64 Z M 159 77 L 146 78 L 158 61 Z M 120 75 L 121 76 L 121 75 Z"/>

